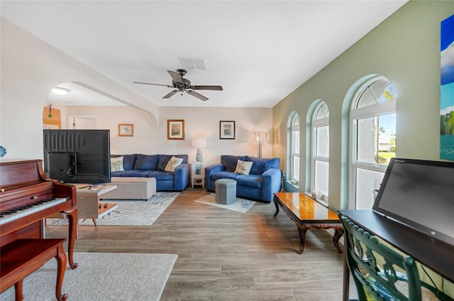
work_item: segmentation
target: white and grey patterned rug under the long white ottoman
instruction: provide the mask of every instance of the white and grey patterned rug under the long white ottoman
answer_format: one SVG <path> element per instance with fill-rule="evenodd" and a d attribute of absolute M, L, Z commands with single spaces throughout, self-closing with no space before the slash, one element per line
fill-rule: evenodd
<path fill-rule="evenodd" d="M 110 214 L 96 219 L 101 226 L 150 226 L 157 217 L 179 196 L 179 192 L 156 192 L 153 197 L 143 199 L 109 199 L 103 202 L 117 204 Z M 67 224 L 67 219 L 47 219 L 48 225 Z M 93 226 L 92 219 L 79 219 L 79 225 Z"/>

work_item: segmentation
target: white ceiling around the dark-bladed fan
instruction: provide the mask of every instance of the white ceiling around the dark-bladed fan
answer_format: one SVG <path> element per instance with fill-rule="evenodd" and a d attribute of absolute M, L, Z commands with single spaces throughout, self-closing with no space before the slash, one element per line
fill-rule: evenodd
<path fill-rule="evenodd" d="M 405 3 L 2 0 L 0 12 L 159 106 L 272 107 Z M 172 88 L 133 84 L 172 84 L 179 58 L 206 58 L 207 70 L 185 78 L 223 91 L 166 100 Z"/>

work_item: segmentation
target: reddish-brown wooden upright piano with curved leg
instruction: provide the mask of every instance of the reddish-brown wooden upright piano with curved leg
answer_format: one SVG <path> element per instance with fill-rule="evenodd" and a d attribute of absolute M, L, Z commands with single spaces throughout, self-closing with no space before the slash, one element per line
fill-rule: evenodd
<path fill-rule="evenodd" d="M 48 179 L 43 160 L 0 162 L 0 246 L 16 239 L 44 239 L 44 219 L 55 213 L 69 221 L 68 263 L 74 263 L 76 188 Z"/>

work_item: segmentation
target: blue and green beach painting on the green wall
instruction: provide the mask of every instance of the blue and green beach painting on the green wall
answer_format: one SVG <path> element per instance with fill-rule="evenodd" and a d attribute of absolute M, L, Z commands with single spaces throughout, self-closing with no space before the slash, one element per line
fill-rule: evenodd
<path fill-rule="evenodd" d="M 454 15 L 441 21 L 440 158 L 454 160 Z"/>

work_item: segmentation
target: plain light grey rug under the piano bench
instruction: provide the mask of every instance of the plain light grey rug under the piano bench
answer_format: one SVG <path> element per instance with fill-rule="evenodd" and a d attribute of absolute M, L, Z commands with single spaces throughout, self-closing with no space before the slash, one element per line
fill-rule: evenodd
<path fill-rule="evenodd" d="M 79 267 L 67 266 L 62 293 L 68 300 L 160 300 L 177 260 L 175 254 L 74 253 Z M 57 261 L 52 259 L 23 281 L 24 300 L 55 300 Z M 14 300 L 14 286 L 0 295 Z"/>

